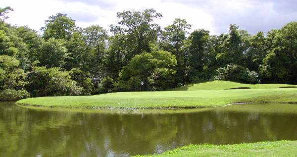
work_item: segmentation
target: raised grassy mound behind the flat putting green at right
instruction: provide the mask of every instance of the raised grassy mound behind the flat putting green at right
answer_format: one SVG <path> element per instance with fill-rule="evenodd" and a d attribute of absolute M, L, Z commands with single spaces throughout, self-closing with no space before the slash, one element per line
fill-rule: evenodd
<path fill-rule="evenodd" d="M 297 87 L 296 85 L 287 84 L 243 84 L 231 81 L 215 80 L 210 82 L 187 85 L 180 88 L 172 89 L 171 91 L 197 91 L 197 90 L 224 90 L 230 88 L 249 87 L 250 89 L 269 89 L 279 87 Z"/>

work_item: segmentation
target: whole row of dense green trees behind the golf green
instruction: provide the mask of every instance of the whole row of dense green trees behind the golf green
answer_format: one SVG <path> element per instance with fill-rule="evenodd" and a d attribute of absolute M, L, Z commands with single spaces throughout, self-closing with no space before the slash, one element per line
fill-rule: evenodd
<path fill-rule="evenodd" d="M 154 9 L 118 12 L 118 23 L 76 26 L 49 16 L 42 34 L 5 23 L 0 8 L 0 100 L 27 97 L 160 91 L 214 79 L 297 84 L 297 22 L 264 35 L 231 24 L 210 35 L 176 18 L 161 28 Z"/>

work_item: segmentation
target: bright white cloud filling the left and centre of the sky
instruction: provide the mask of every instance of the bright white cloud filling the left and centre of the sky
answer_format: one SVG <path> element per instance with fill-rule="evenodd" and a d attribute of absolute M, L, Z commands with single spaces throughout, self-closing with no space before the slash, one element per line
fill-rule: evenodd
<path fill-rule="evenodd" d="M 118 18 L 116 13 L 119 11 L 134 9 L 144 10 L 154 8 L 162 13 L 163 17 L 155 22 L 162 27 L 171 24 L 176 17 L 186 19 L 193 29 L 207 29 L 213 31 L 211 16 L 198 8 L 183 5 L 176 2 L 162 2 L 161 0 L 111 0 L 113 7 L 101 7 L 97 5 L 86 4 L 83 1 L 58 1 L 58 0 L 4 0 L 2 7 L 11 6 L 11 11 L 6 22 L 17 25 L 28 25 L 35 30 L 44 26 L 44 21 L 50 15 L 57 12 L 66 13 L 69 16 L 77 16 L 76 24 L 80 27 L 87 27 L 98 24 L 105 29 L 109 29 L 110 24 L 116 24 Z M 92 21 L 88 16 L 94 18 Z M 85 20 L 84 18 L 88 19 Z"/>

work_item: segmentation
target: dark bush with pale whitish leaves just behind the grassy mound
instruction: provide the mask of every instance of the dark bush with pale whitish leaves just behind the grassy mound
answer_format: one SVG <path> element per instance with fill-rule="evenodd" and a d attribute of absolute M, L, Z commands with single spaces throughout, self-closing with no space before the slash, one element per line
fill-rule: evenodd
<path fill-rule="evenodd" d="M 256 84 L 260 83 L 258 73 L 249 71 L 240 65 L 227 65 L 226 68 L 218 68 L 218 75 L 215 76 L 217 80 L 236 81 L 242 83 Z"/>

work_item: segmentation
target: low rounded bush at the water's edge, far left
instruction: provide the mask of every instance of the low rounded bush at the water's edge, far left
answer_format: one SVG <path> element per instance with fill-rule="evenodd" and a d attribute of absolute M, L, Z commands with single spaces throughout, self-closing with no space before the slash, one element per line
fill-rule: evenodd
<path fill-rule="evenodd" d="M 18 101 L 29 98 L 30 94 L 26 90 L 6 89 L 0 92 L 0 101 Z"/>

